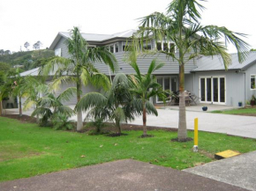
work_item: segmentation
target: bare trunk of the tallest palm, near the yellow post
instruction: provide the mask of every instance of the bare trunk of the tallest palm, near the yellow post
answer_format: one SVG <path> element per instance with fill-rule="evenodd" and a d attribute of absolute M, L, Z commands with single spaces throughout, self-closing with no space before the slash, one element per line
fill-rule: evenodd
<path fill-rule="evenodd" d="M 179 66 L 179 111 L 178 111 L 178 141 L 185 141 L 187 138 L 185 100 L 184 100 L 184 63 Z"/>

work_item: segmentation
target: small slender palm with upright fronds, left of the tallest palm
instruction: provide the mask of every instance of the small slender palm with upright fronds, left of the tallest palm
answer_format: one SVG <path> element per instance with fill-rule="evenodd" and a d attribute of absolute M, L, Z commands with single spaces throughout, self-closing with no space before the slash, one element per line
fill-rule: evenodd
<path fill-rule="evenodd" d="M 131 62 L 130 65 L 136 72 L 136 75 L 130 75 L 133 84 L 131 92 L 137 98 L 136 101 L 141 108 L 143 136 L 147 137 L 147 114 L 158 115 L 157 110 L 149 99 L 156 96 L 163 101 L 166 99 L 165 92 L 162 91 L 162 85 L 158 84 L 156 78 L 152 75 L 155 70 L 161 69 L 164 63 L 157 63 L 153 60 L 146 75 L 140 74 L 137 62 Z"/>

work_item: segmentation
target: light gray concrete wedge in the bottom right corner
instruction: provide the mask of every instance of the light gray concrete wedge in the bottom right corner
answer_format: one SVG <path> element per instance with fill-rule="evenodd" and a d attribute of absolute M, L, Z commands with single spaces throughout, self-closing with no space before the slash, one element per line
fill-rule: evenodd
<path fill-rule="evenodd" d="M 256 151 L 185 169 L 209 179 L 256 190 Z"/>

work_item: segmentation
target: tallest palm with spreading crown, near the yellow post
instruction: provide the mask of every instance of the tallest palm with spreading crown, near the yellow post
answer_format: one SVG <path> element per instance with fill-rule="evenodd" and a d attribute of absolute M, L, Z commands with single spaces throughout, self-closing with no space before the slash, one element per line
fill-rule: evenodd
<path fill-rule="evenodd" d="M 141 18 L 138 37 L 140 46 L 146 40 L 162 40 L 174 42 L 175 47 L 165 48 L 160 52 L 179 63 L 179 122 L 178 140 L 186 141 L 186 117 L 184 102 L 184 65 L 199 55 L 221 55 L 225 68 L 230 64 L 230 55 L 227 53 L 222 38 L 237 48 L 239 62 L 245 61 L 248 44 L 241 39 L 246 35 L 234 33 L 222 26 L 201 26 L 200 10 L 204 7 L 199 3 L 203 0 L 173 0 L 167 13 L 154 12 Z M 177 50 L 173 51 L 174 49 Z"/>

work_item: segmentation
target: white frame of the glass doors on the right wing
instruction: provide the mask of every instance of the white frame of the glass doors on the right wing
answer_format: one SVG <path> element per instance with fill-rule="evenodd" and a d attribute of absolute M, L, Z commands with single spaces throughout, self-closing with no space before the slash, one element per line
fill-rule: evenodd
<path fill-rule="evenodd" d="M 224 93 L 225 93 L 225 102 L 221 102 L 221 92 L 220 92 L 220 78 L 225 78 L 224 84 Z M 200 98 L 200 103 L 206 104 L 218 104 L 218 105 L 226 105 L 227 104 L 227 77 L 226 76 L 200 76 L 199 77 L 199 97 L 201 97 L 201 78 L 205 78 L 205 101 L 202 101 Z M 211 101 L 207 101 L 207 78 L 211 78 Z M 214 80 L 213 78 L 218 78 L 218 102 L 214 101 Z"/>

